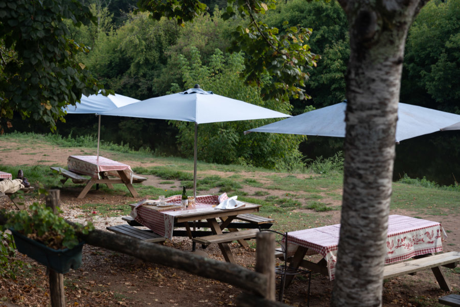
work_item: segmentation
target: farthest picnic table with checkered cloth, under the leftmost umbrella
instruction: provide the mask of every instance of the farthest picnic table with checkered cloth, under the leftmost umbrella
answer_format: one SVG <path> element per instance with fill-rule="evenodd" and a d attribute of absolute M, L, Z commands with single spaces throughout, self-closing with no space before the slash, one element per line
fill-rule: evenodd
<path fill-rule="evenodd" d="M 139 194 L 132 186 L 133 173 L 131 167 L 127 164 L 101 156 L 70 156 L 67 158 L 67 168 L 68 171 L 78 176 L 90 177 L 86 186 L 78 195 L 78 199 L 84 198 L 94 184 L 106 184 L 109 189 L 113 189 L 112 184 L 118 183 L 124 184 L 133 197 L 139 197 Z M 117 177 L 110 178 L 110 172 L 117 174 Z"/>

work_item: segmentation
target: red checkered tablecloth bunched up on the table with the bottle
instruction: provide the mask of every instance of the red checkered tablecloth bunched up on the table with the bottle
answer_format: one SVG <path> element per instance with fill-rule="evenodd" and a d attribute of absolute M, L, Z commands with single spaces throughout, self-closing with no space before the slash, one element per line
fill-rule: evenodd
<path fill-rule="evenodd" d="M 165 201 L 169 204 L 180 204 L 182 195 L 174 195 L 167 198 Z M 226 193 L 220 196 L 217 195 L 203 195 L 196 196 L 196 205 L 189 206 L 187 210 L 200 210 L 212 208 L 215 205 L 228 199 Z M 169 210 L 152 210 L 144 207 L 142 204 L 137 205 L 132 213 L 136 222 L 150 228 L 155 233 L 162 235 L 168 239 L 172 239 L 174 230 L 174 212 L 177 212 L 177 207 Z"/>

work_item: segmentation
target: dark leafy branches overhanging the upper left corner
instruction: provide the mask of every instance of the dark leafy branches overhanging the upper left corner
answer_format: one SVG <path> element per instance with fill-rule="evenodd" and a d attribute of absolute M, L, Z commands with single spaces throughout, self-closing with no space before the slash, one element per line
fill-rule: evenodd
<path fill-rule="evenodd" d="M 76 60 L 75 54 L 88 49 L 69 38 L 64 22 L 71 19 L 79 26 L 93 16 L 77 0 L 1 0 L 0 18 L 0 119 L 11 119 L 17 111 L 53 130 L 55 120 L 63 119 L 62 106 L 100 89 Z"/>

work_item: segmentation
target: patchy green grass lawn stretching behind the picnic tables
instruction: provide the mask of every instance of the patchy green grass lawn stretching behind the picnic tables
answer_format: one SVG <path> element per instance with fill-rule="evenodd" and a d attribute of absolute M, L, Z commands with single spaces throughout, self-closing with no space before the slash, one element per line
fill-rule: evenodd
<path fill-rule="evenodd" d="M 76 153 L 83 155 L 94 155 L 96 143 L 94 137 L 69 136 L 62 138 L 56 135 L 35 135 L 35 134 L 6 134 L 0 136 L 0 140 L 16 141 L 24 146 L 18 148 L 2 148 L 0 151 L 20 150 L 30 147 L 39 147 L 44 143 L 51 143 L 60 147 L 74 148 Z M 27 144 L 27 146 L 26 146 Z M 182 186 L 188 190 L 193 187 L 193 159 L 175 157 L 156 157 L 149 150 L 134 151 L 128 144 L 113 145 L 102 144 L 101 149 L 104 155 L 117 157 L 117 160 L 135 160 L 142 164 L 155 162 L 161 166 L 134 167 L 133 170 L 140 174 L 152 174 L 162 178 L 161 184 L 173 185 L 162 189 L 154 186 L 135 185 L 136 191 L 141 197 L 157 198 L 158 195 L 171 196 L 180 194 Z M 33 153 L 31 153 L 32 155 Z M 111 156 L 110 156 L 111 155 Z M 1 159 L 1 158 L 0 158 Z M 41 160 L 44 162 L 44 160 Z M 338 210 L 338 206 L 330 206 L 331 201 L 341 200 L 341 189 L 343 184 L 342 158 L 336 156 L 326 160 L 315 160 L 310 163 L 308 170 L 300 169 L 299 172 L 311 174 L 306 179 L 299 178 L 297 173 L 276 172 L 263 168 L 256 168 L 243 165 L 219 165 L 215 163 L 204 163 L 198 161 L 197 189 L 200 193 L 208 193 L 210 189 L 218 193 L 226 192 L 229 196 L 238 195 L 240 200 L 262 205 L 260 214 L 271 216 L 277 220 L 274 227 L 286 229 L 291 227 L 312 227 L 318 226 L 317 221 L 325 219 L 329 211 Z M 1 160 L 0 160 L 1 163 Z M 65 161 L 61 165 L 65 167 Z M 1 165 L 0 169 L 11 172 L 15 177 L 17 170 L 24 170 L 29 182 L 37 186 L 39 183 L 43 188 L 62 188 L 61 177 L 54 174 L 49 166 L 35 165 Z M 201 176 L 200 172 L 214 171 L 212 176 Z M 263 172 L 263 174 L 258 173 Z M 305 177 L 305 176 L 302 176 Z M 179 182 L 179 184 L 175 184 Z M 83 187 L 67 182 L 66 187 Z M 244 191 L 245 187 L 256 188 L 252 195 Z M 93 187 L 94 188 L 94 187 Z M 131 195 L 124 185 L 114 185 L 114 189 L 106 186 L 100 187 L 104 192 L 111 195 L 124 195 L 130 198 Z M 260 190 L 258 190 L 260 189 Z M 279 191 L 282 190 L 281 196 Z M 273 191 L 273 192 L 271 192 Z M 258 198 L 251 197 L 258 196 Z M 261 199 L 263 198 L 263 199 Z M 408 210 L 417 212 L 412 216 L 425 215 L 450 215 L 458 214 L 460 203 L 460 187 L 443 187 L 426 179 L 410 179 L 405 176 L 399 182 L 393 184 L 393 195 L 390 209 Z M 91 207 L 93 206 L 93 207 Z M 107 206 L 105 206 L 107 207 Z M 87 212 L 98 211 L 100 214 L 121 213 L 118 208 L 105 208 L 103 204 L 88 204 Z M 294 212 L 296 209 L 307 209 L 306 213 Z M 93 212 L 91 211 L 91 212 Z M 125 213 L 125 212 L 123 212 Z M 300 214 L 300 216 L 298 216 Z M 320 215 L 321 214 L 321 215 Z M 302 220 L 293 221 L 293 217 Z M 310 224 L 303 224 L 307 221 Z M 303 225 L 303 226 L 302 226 Z M 294 227 L 294 228 L 295 228 Z M 305 227 L 304 227 L 305 228 Z"/>

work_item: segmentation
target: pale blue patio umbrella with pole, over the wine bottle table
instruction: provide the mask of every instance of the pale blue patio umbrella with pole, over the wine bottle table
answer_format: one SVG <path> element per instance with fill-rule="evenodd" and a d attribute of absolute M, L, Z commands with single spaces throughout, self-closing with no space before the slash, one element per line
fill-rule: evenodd
<path fill-rule="evenodd" d="M 198 124 L 291 117 L 241 100 L 203 91 L 198 85 L 195 85 L 195 89 L 185 92 L 146 99 L 98 114 L 194 122 L 193 195 L 195 197 Z"/>

